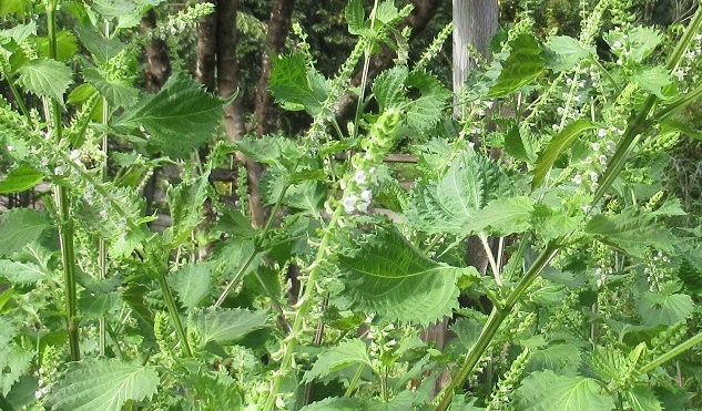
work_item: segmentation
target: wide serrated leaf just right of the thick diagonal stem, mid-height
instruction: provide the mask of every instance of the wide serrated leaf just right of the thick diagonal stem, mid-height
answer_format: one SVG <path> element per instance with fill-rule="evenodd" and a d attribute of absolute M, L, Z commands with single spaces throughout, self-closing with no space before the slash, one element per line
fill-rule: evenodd
<path fill-rule="evenodd" d="M 633 207 L 614 216 L 596 215 L 586 225 L 584 233 L 637 257 L 642 257 L 649 247 L 672 251 L 679 242 L 668 228 L 657 224 L 653 216 Z"/>

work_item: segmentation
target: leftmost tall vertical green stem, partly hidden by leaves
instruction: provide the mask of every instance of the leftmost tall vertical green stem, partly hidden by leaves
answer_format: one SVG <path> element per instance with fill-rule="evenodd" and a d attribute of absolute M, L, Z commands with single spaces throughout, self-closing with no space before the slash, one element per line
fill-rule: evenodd
<path fill-rule="evenodd" d="M 49 56 L 57 58 L 57 28 L 55 28 L 55 8 L 57 0 L 47 4 L 47 25 L 49 31 Z M 61 105 L 58 101 L 51 100 L 51 123 L 57 146 L 61 145 L 63 138 L 63 124 L 61 123 Z M 71 160 L 69 158 L 69 162 Z M 71 360 L 80 360 L 80 345 L 78 322 L 75 320 L 77 312 L 77 291 L 75 291 L 75 245 L 73 244 L 74 227 L 71 217 L 70 189 L 65 186 L 58 185 L 54 187 L 54 196 L 57 208 L 59 210 L 59 235 L 61 246 L 61 259 L 63 263 L 63 287 L 65 292 L 65 322 L 69 333 L 69 347 L 71 349 Z"/>

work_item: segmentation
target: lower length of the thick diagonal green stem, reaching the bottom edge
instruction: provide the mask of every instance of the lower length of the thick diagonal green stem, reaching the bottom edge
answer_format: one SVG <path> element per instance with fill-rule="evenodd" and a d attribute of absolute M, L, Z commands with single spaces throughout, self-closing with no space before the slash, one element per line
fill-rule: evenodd
<path fill-rule="evenodd" d="M 454 390 L 462 387 L 462 384 L 468 379 L 468 376 L 470 376 L 475 367 L 478 364 L 478 361 L 480 361 L 480 358 L 485 355 L 485 351 L 492 342 L 492 339 L 502 325 L 502 321 L 505 321 L 507 316 L 509 316 L 517 301 L 520 300 L 527 289 L 529 289 L 529 287 L 537 279 L 539 274 L 541 274 L 541 271 L 543 271 L 551 259 L 556 257 L 558 251 L 558 245 L 556 245 L 555 243 L 549 243 L 546 249 L 539 255 L 537 260 L 533 261 L 533 264 L 521 278 L 521 280 L 519 280 L 517 287 L 512 290 L 509 297 L 507 297 L 503 308 L 492 309 L 492 312 L 490 314 L 490 317 L 488 317 L 488 321 L 485 325 L 482 332 L 480 332 L 480 336 L 478 337 L 475 346 L 472 346 L 472 348 L 468 352 L 468 357 L 466 357 L 466 361 L 458 371 L 458 374 L 452 378 L 451 381 L 444 388 L 441 393 L 437 395 L 437 399 L 440 399 L 437 410 L 444 411 L 448 409 L 451 400 L 454 399 Z"/>

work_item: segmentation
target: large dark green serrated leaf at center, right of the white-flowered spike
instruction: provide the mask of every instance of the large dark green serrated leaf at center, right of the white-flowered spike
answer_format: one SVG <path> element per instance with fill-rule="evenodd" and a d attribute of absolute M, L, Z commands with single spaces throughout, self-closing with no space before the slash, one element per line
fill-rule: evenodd
<path fill-rule="evenodd" d="M 475 268 L 430 260 L 395 228 L 353 243 L 338 257 L 346 292 L 356 308 L 388 321 L 428 325 L 450 316 L 458 308 L 458 278 L 479 278 Z"/>

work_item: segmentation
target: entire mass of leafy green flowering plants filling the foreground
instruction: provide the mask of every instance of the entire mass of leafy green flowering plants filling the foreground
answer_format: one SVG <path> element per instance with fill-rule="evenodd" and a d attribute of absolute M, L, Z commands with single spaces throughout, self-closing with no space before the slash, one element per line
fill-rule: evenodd
<path fill-rule="evenodd" d="M 133 68 L 152 35 L 212 7 L 133 32 L 156 3 L 1 9 L 0 192 L 49 182 L 54 195 L 0 217 L 0 409 L 699 405 L 702 233 L 669 224 L 685 212 L 661 181 L 692 132 L 679 115 L 702 94 L 688 70 L 702 13 L 674 47 L 618 1 L 589 10 L 578 39 L 539 39 L 525 17 L 455 116 L 427 71 L 450 27 L 409 62 L 396 24 L 410 9 L 376 1 L 366 16 L 352 0 L 358 42 L 333 79 L 304 38 L 275 59 L 271 91 L 313 117 L 307 133 L 215 143 L 201 162 L 230 101 L 185 73 L 140 92 Z M 603 16 L 617 25 L 604 60 Z M 396 65 L 354 90 L 339 124 L 357 63 L 367 73 L 383 44 Z M 409 192 L 384 163 L 398 146 L 417 156 Z M 236 152 L 266 165 L 260 229 L 208 182 Z M 182 173 L 156 233 L 140 191 L 163 163 Z M 216 218 L 199 227 L 205 203 Z M 468 244 L 487 275 L 466 264 Z M 420 338 L 445 318 L 445 346 Z"/>

